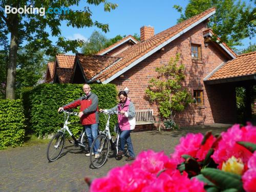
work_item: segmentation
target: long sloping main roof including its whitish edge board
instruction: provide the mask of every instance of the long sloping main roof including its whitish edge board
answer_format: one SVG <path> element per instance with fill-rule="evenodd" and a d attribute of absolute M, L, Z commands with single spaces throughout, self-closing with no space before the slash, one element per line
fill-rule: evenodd
<path fill-rule="evenodd" d="M 164 46 L 180 37 L 190 29 L 194 28 L 198 24 L 204 22 L 207 18 L 216 12 L 215 8 L 210 8 L 201 14 L 191 17 L 184 22 L 177 24 L 155 36 L 147 39 L 140 44 L 134 45 L 131 48 L 125 50 L 122 55 L 123 58 L 117 65 L 111 69 L 104 71 L 98 79 L 103 83 L 108 83 L 116 77 L 123 74 L 125 71 L 136 66 L 139 62 L 162 49 Z"/>

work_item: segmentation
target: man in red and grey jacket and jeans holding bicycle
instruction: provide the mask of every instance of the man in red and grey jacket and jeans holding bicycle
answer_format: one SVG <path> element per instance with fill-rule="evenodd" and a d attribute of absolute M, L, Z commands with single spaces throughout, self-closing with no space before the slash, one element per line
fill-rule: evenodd
<path fill-rule="evenodd" d="M 84 84 L 83 87 L 84 95 L 70 102 L 67 105 L 64 105 L 58 109 L 58 112 L 61 110 L 68 110 L 76 108 L 80 106 L 80 112 L 78 116 L 81 118 L 81 124 L 84 126 L 86 130 L 86 135 L 89 140 L 89 146 L 92 146 L 93 140 L 98 135 L 98 124 L 99 124 L 99 108 L 98 108 L 98 96 L 91 92 L 91 88 L 89 84 Z M 98 147 L 96 146 L 92 153 L 95 154 L 95 158 L 99 157 L 97 153 Z M 86 154 L 86 156 L 90 156 L 90 153 Z"/>

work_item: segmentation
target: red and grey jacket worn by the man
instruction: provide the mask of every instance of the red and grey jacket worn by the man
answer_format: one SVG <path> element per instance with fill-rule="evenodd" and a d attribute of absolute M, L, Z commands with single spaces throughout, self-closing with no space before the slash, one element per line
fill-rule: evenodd
<path fill-rule="evenodd" d="M 80 111 L 83 115 L 81 117 L 82 125 L 89 125 L 99 123 L 99 108 L 98 108 L 98 97 L 93 93 L 89 93 L 88 96 L 84 95 L 63 106 L 63 109 L 73 109 L 80 106 Z"/>

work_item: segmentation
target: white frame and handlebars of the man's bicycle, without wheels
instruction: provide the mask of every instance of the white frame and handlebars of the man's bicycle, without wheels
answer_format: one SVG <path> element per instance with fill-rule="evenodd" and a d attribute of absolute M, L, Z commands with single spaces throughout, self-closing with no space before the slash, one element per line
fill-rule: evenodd
<path fill-rule="evenodd" d="M 79 146 L 82 146 L 82 147 L 86 147 L 85 145 L 83 145 L 82 143 L 79 143 L 79 142 L 76 140 L 75 136 L 74 136 L 73 133 L 69 130 L 69 127 L 68 127 L 68 124 L 71 124 L 71 122 L 68 121 L 70 115 L 76 115 L 76 116 L 78 116 L 78 114 L 77 114 L 76 112 L 68 112 L 68 111 L 65 111 L 65 110 L 63 110 L 62 112 L 65 114 L 65 116 L 64 116 L 64 125 L 63 125 L 63 127 L 62 127 L 60 130 L 58 130 L 58 132 L 61 132 L 61 133 L 65 134 L 65 132 L 66 132 L 66 130 L 67 130 L 67 132 L 68 132 L 69 135 L 72 137 L 72 139 L 74 140 L 74 143 L 75 143 L 76 145 L 79 145 Z M 82 132 L 82 134 L 80 135 L 80 138 L 83 138 L 84 134 L 86 134 L 85 131 Z"/>

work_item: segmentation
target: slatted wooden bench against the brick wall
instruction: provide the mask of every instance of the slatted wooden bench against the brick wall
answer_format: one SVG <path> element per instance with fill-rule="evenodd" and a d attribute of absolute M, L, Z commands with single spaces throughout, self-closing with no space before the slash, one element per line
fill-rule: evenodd
<path fill-rule="evenodd" d="M 135 113 L 136 125 L 152 124 L 155 123 L 153 110 L 140 110 Z"/>

